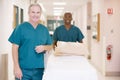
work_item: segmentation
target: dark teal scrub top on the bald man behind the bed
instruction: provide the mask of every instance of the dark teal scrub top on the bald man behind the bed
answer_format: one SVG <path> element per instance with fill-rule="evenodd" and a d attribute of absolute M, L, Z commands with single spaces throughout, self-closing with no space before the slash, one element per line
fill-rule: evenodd
<path fill-rule="evenodd" d="M 56 28 L 53 35 L 54 41 L 80 42 L 83 38 L 84 35 L 80 29 L 74 25 L 71 25 L 69 30 L 67 30 L 64 25 L 61 25 Z"/>

